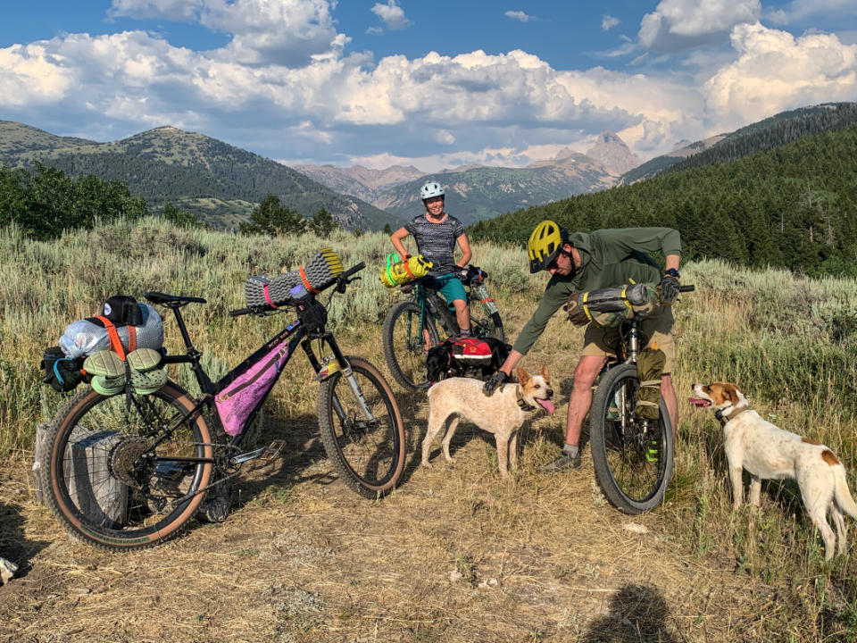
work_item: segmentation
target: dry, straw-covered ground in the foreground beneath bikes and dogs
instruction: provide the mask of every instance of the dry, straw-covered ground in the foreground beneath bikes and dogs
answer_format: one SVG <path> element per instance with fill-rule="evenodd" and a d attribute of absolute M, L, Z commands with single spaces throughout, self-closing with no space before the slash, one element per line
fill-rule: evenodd
<path fill-rule="evenodd" d="M 670 503 L 618 513 L 588 452 L 578 472 L 537 472 L 564 408 L 525 430 L 504 483 L 493 437 L 470 425 L 454 469 L 439 444 L 418 466 L 423 399 L 400 397 L 410 452 L 391 496 L 346 489 L 314 418 L 293 419 L 272 429 L 287 453 L 243 473 L 226 522 L 132 553 L 68 539 L 21 454 L 0 473 L 0 555 L 21 564 L 0 588 L 0 641 L 780 639 L 766 625 L 780 589 L 728 556 L 695 557 Z"/>

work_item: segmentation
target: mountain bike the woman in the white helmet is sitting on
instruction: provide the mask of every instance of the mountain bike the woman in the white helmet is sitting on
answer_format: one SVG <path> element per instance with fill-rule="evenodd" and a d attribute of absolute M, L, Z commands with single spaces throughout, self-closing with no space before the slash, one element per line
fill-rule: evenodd
<path fill-rule="evenodd" d="M 494 300 L 488 296 L 485 280 L 487 273 L 476 266 L 468 266 L 462 274 L 470 311 L 470 331 L 473 337 L 497 338 L 505 341 L 503 320 Z M 410 287 L 410 288 L 409 288 Z M 407 284 L 411 297 L 393 306 L 384 319 L 384 357 L 393 378 L 407 390 L 428 388 L 426 353 L 441 342 L 440 330 L 445 338 L 459 334 L 455 312 L 437 290 L 428 288 L 423 280 Z"/>

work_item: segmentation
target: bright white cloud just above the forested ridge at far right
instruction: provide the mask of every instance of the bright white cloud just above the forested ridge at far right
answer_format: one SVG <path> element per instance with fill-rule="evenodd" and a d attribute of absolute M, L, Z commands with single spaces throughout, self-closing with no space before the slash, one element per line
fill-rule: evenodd
<path fill-rule="evenodd" d="M 759 23 L 737 25 L 738 59 L 703 86 L 707 104 L 739 125 L 807 104 L 857 100 L 857 45 L 836 36 L 795 38 Z"/>

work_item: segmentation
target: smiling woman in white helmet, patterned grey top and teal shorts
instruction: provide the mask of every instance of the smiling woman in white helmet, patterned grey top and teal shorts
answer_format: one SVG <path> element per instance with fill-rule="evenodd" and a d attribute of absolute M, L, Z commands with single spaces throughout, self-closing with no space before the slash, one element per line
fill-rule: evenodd
<path fill-rule="evenodd" d="M 395 230 L 390 235 L 390 241 L 399 256 L 407 259 L 410 255 L 404 249 L 402 240 L 413 235 L 417 242 L 417 252 L 434 263 L 422 283 L 427 288 L 437 290 L 453 305 L 458 328 L 462 337 L 466 337 L 470 335 L 470 312 L 460 275 L 472 255 L 470 242 L 464 233 L 462 222 L 444 211 L 445 192 L 439 183 L 426 183 L 420 189 L 420 197 L 426 212 Z M 462 258 L 458 263 L 455 262 L 454 256 L 456 243 L 462 249 Z"/>

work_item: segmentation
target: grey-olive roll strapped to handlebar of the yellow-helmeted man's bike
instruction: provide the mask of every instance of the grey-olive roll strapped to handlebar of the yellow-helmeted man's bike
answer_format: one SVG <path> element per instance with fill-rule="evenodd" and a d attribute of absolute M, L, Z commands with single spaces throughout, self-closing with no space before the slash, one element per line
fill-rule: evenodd
<path fill-rule="evenodd" d="M 583 326 L 591 321 L 595 326 L 612 328 L 632 317 L 645 317 L 653 313 L 657 303 L 657 293 L 652 286 L 626 284 L 574 293 L 563 309 L 575 326 Z"/>

